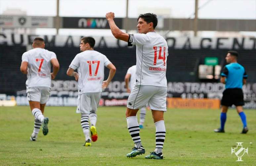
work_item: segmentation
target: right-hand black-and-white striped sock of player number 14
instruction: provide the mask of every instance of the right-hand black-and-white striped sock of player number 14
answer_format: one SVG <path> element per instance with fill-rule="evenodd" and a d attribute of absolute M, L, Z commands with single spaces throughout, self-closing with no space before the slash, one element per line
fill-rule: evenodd
<path fill-rule="evenodd" d="M 155 122 L 155 153 L 162 153 L 165 140 L 164 120 Z"/>

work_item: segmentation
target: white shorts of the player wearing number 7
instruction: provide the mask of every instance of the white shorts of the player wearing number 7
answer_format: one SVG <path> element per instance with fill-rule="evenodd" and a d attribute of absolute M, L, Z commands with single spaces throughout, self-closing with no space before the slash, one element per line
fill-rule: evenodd
<path fill-rule="evenodd" d="M 51 88 L 35 86 L 27 88 L 26 92 L 28 101 L 37 101 L 40 104 L 45 104 L 49 100 Z"/>

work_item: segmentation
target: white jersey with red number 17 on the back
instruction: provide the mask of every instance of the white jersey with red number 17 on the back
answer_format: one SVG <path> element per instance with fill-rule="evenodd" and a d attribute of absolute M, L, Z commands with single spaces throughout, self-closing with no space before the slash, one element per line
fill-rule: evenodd
<path fill-rule="evenodd" d="M 94 93 L 102 91 L 104 80 L 104 66 L 111 62 L 107 57 L 95 50 L 86 50 L 78 53 L 69 65 L 77 69 L 79 74 L 78 93 Z"/>

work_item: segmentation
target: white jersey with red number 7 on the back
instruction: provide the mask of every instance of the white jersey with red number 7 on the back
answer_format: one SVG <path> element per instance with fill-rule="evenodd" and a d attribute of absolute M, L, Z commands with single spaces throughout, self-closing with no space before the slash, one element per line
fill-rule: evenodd
<path fill-rule="evenodd" d="M 51 87 L 51 59 L 56 54 L 41 48 L 26 51 L 22 55 L 22 62 L 28 62 L 26 87 Z"/>

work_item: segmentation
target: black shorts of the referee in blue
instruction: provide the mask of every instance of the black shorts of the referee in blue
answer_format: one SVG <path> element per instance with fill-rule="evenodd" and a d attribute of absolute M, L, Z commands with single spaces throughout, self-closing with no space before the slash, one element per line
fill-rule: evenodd
<path fill-rule="evenodd" d="M 223 106 L 243 106 L 243 90 L 240 88 L 225 89 L 221 99 L 221 105 Z"/>

